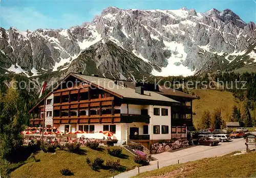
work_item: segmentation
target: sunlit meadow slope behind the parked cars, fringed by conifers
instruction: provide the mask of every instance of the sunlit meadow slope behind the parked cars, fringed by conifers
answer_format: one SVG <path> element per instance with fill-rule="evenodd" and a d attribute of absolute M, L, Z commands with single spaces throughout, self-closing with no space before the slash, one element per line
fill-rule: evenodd
<path fill-rule="evenodd" d="M 193 113 L 196 113 L 196 115 L 193 115 L 193 122 L 196 127 L 206 109 L 212 113 L 215 108 L 221 108 L 222 119 L 226 121 L 227 115 L 232 113 L 233 105 L 241 108 L 241 101 L 234 98 L 231 92 L 202 89 L 193 90 L 193 92 L 200 97 L 200 99 L 193 101 Z"/>

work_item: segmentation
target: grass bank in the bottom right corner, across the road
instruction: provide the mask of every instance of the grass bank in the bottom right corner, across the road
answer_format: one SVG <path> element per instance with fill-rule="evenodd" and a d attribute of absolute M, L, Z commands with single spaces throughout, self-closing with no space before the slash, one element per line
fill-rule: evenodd
<path fill-rule="evenodd" d="M 256 151 L 166 166 L 135 177 L 255 177 Z"/>

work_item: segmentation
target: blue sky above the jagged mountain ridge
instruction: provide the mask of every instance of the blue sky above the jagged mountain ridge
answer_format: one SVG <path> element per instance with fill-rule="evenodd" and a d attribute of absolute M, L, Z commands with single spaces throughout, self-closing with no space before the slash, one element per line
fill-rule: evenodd
<path fill-rule="evenodd" d="M 246 23 L 256 21 L 256 0 L 205 1 L 92 1 L 92 0 L 0 0 L 0 26 L 20 30 L 37 28 L 70 28 L 91 21 L 103 9 L 115 6 L 122 9 L 180 9 L 194 8 L 206 12 L 212 8 L 231 9 Z"/>

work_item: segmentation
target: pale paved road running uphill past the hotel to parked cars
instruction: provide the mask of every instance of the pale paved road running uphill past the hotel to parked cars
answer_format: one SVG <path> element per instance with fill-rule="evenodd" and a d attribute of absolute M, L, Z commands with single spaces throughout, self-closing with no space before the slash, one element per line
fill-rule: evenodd
<path fill-rule="evenodd" d="M 250 149 L 253 149 L 254 145 L 250 145 Z M 154 158 L 159 161 L 159 168 L 180 163 L 186 163 L 189 161 L 196 161 L 203 158 L 217 157 L 232 151 L 244 150 L 244 139 L 232 139 L 232 141 L 220 143 L 218 146 L 194 146 L 186 149 L 182 149 L 175 152 L 163 152 L 155 154 Z M 149 166 L 140 167 L 140 173 L 157 169 L 157 161 L 152 161 Z M 115 177 L 131 177 L 138 174 L 138 168 L 116 175 Z"/>

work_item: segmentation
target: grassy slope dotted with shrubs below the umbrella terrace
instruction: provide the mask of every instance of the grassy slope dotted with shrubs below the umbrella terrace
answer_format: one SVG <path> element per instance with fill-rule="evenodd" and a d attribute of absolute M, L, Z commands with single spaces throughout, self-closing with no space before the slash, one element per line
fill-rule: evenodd
<path fill-rule="evenodd" d="M 99 171 L 94 171 L 86 163 L 86 158 L 88 157 L 91 161 L 95 158 L 101 158 L 104 161 L 112 160 L 115 161 L 120 158 L 113 157 L 108 154 L 105 147 L 102 150 L 97 151 L 87 147 L 81 147 L 85 149 L 86 152 L 82 155 L 71 153 L 64 150 L 56 150 L 55 153 L 44 153 L 39 151 L 35 158 L 39 159 L 39 162 L 31 161 L 23 166 L 17 168 L 11 172 L 11 177 L 65 177 L 60 173 L 61 169 L 68 168 L 74 175 L 69 177 L 111 177 L 113 173 L 109 170 L 100 169 Z M 133 155 L 122 149 L 123 158 L 120 159 L 120 164 L 125 166 L 126 170 L 133 169 L 138 166 L 133 160 Z M 118 174 L 119 172 L 115 172 Z"/>

